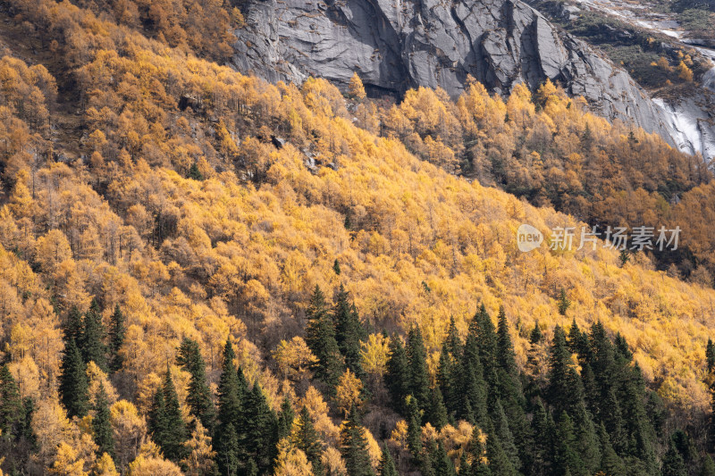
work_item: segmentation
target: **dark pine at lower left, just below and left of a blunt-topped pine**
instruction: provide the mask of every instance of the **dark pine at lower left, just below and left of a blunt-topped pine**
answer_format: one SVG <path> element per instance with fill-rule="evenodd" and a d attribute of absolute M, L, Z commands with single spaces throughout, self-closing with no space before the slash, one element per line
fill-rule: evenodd
<path fill-rule="evenodd" d="M 164 374 L 162 388 L 156 390 L 148 426 L 152 438 L 162 449 L 164 457 L 172 461 L 181 461 L 187 454 L 184 444 L 189 439 L 189 431 L 181 417 L 179 396 L 176 395 L 172 373 L 168 369 Z"/>

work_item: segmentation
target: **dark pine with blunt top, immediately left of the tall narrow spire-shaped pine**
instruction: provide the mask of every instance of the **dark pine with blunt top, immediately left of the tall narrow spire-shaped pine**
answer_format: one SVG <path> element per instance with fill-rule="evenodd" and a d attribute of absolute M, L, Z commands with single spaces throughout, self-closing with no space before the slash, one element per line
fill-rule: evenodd
<path fill-rule="evenodd" d="M 191 375 L 186 397 L 191 414 L 198 418 L 204 428 L 213 430 L 216 410 L 211 389 L 206 382 L 206 363 L 196 340 L 184 338 L 181 341 L 176 363 Z"/>

